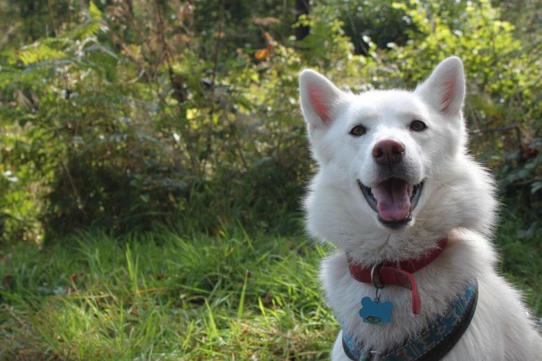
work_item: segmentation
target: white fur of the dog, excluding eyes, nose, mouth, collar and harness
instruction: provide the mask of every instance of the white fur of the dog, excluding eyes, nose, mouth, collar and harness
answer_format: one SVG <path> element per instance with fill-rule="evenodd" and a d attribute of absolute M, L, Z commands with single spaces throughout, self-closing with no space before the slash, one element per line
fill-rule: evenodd
<path fill-rule="evenodd" d="M 300 75 L 300 101 L 307 122 L 318 173 L 305 198 L 307 229 L 338 250 L 322 263 L 320 279 L 325 296 L 343 328 L 373 350 L 385 351 L 415 337 L 442 315 L 466 284 L 478 279 L 478 307 L 469 328 L 446 361 L 542 360 L 542 338 L 521 303 L 521 295 L 495 270 L 496 254 L 489 241 L 496 221 L 494 183 L 467 154 L 462 118 L 464 73 L 458 57 L 440 63 L 413 92 L 340 91 L 315 71 Z M 422 120 L 427 129 L 411 131 Z M 363 136 L 350 135 L 362 124 Z M 377 220 L 359 189 L 379 181 L 372 147 L 385 138 L 406 147 L 408 183 L 425 179 L 413 220 L 390 230 Z M 381 299 L 394 304 L 392 322 L 364 324 L 360 300 L 374 297 L 370 284 L 355 281 L 347 269 L 345 252 L 361 263 L 419 257 L 449 235 L 448 246 L 433 263 L 415 272 L 422 312 L 413 315 L 410 291 L 384 287 Z M 341 334 L 332 360 L 349 361 Z"/>

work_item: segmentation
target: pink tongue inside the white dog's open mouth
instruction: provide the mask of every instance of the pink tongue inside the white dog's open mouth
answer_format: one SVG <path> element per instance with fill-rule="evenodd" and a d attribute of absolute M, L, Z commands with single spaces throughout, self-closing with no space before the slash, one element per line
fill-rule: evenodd
<path fill-rule="evenodd" d="M 378 214 L 386 221 L 400 221 L 408 216 L 410 197 L 404 180 L 388 179 L 374 187 L 373 193 L 378 202 Z"/>

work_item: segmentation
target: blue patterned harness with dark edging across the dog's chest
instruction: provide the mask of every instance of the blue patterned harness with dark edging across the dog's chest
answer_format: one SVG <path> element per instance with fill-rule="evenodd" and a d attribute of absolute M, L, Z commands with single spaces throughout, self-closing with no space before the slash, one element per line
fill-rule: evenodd
<path fill-rule="evenodd" d="M 478 282 L 467 286 L 465 293 L 446 315 L 426 329 L 418 338 L 399 349 L 379 353 L 381 361 L 437 361 L 460 340 L 471 323 L 478 302 Z M 370 361 L 374 352 L 352 340 L 343 330 L 343 349 L 350 360 Z"/>

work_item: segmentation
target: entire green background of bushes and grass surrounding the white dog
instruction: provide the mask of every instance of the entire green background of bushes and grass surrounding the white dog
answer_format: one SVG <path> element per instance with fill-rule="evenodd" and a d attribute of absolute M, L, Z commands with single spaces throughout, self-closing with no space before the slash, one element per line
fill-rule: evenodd
<path fill-rule="evenodd" d="M 0 0 L 0 360 L 325 360 L 298 73 L 449 55 L 541 317 L 541 1 Z"/>

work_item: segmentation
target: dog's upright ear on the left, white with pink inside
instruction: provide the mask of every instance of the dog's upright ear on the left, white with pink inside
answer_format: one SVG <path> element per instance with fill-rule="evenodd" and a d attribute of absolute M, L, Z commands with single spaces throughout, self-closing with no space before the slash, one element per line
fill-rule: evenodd
<path fill-rule="evenodd" d="M 305 69 L 299 75 L 299 95 L 305 121 L 324 128 L 334 118 L 343 92 L 317 71 Z"/>

